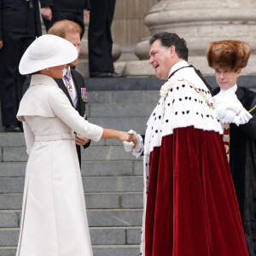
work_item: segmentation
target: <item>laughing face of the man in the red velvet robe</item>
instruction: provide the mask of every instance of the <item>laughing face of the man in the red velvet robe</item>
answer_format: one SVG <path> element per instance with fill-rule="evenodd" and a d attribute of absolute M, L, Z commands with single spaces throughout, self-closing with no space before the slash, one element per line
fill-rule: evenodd
<path fill-rule="evenodd" d="M 173 66 L 171 52 L 172 46 L 166 48 L 162 46 L 160 39 L 154 41 L 149 50 L 148 63 L 154 67 L 155 76 L 158 79 L 167 79 L 168 74 Z"/>

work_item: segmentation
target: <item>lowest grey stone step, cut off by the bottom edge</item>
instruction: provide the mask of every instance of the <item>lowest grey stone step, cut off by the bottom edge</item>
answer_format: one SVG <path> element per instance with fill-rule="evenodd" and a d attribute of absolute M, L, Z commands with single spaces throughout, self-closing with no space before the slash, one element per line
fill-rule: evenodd
<path fill-rule="evenodd" d="M 105 245 L 92 246 L 94 256 L 137 256 L 140 249 L 138 245 Z M 0 247 L 1 256 L 15 256 L 16 247 Z"/>

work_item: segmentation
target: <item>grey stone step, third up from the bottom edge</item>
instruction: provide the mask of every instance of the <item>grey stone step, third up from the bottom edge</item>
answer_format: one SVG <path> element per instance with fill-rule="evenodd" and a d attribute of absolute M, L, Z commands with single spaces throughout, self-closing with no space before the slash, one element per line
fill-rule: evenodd
<path fill-rule="evenodd" d="M 19 228 L 21 211 L 0 211 L 0 228 Z M 87 210 L 90 227 L 141 226 L 143 209 Z"/>

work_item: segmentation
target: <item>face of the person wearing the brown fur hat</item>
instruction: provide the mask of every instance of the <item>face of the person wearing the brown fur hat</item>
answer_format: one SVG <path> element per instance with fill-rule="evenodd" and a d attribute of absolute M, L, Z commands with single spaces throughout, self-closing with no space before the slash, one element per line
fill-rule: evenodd
<path fill-rule="evenodd" d="M 215 69 L 216 82 L 220 89 L 228 90 L 236 84 L 237 78 L 240 76 L 241 69 L 227 70 L 224 68 Z"/>

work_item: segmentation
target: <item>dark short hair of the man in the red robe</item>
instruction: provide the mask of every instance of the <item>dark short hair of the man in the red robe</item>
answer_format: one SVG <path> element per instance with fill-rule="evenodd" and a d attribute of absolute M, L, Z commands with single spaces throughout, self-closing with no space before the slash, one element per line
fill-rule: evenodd
<path fill-rule="evenodd" d="M 156 40 L 160 40 L 161 44 L 166 48 L 169 48 L 172 45 L 175 46 L 177 56 L 180 59 L 188 61 L 189 49 L 184 38 L 180 38 L 176 33 L 159 32 L 150 38 L 149 44 L 154 44 L 154 41 Z"/>

